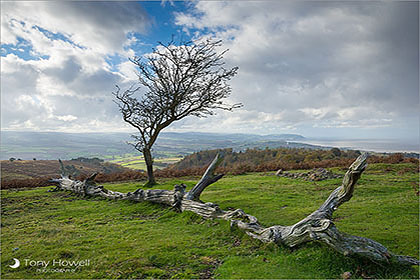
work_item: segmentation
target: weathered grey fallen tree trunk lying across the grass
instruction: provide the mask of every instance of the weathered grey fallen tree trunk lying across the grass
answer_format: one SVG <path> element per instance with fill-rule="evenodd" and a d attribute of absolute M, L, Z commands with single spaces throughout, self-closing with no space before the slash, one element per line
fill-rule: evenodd
<path fill-rule="evenodd" d="M 223 174 L 215 175 L 215 169 L 222 161 L 217 155 L 210 164 L 201 180 L 191 191 L 186 192 L 184 184 L 176 185 L 174 190 L 143 190 L 121 193 L 97 186 L 94 182 L 95 174 L 84 181 L 72 180 L 62 168 L 62 178 L 53 179 L 57 190 L 68 190 L 84 196 L 101 196 L 107 199 L 126 199 L 131 201 L 150 201 L 169 205 L 179 211 L 192 211 L 206 219 L 224 219 L 231 222 L 231 226 L 238 227 L 249 236 L 262 242 L 295 247 L 305 242 L 316 241 L 324 243 L 345 256 L 362 256 L 374 262 L 396 262 L 402 265 L 419 265 L 419 260 L 395 255 L 383 245 L 368 238 L 358 237 L 340 232 L 332 221 L 333 212 L 353 196 L 354 187 L 365 170 L 367 154 L 359 156 L 344 175 L 342 185 L 336 188 L 324 204 L 316 211 L 291 226 L 263 227 L 256 217 L 246 214 L 241 209 L 232 211 L 221 210 L 217 204 L 200 201 L 200 195 L 210 184 L 219 180 Z"/>

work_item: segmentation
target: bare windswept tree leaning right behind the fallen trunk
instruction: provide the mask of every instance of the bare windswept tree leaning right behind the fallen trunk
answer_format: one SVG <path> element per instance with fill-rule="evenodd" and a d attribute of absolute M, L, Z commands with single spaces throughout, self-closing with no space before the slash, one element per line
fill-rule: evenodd
<path fill-rule="evenodd" d="M 113 94 L 124 121 L 138 130 L 131 144 L 143 153 L 148 185 L 156 183 L 151 149 L 165 127 L 187 116 L 240 107 L 225 103 L 231 93 L 227 82 L 238 67 L 224 67 L 227 50 L 218 52 L 221 44 L 211 39 L 178 46 L 159 43 L 152 53 L 130 59 L 138 67 L 139 85 L 125 91 L 117 86 Z"/>

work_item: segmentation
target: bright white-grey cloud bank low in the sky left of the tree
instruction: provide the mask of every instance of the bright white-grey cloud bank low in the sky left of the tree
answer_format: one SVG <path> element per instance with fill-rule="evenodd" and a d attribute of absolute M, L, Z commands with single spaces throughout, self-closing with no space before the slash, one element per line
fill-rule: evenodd
<path fill-rule="evenodd" d="M 118 127 L 121 117 L 111 95 L 118 76 L 103 70 L 91 75 L 77 72 L 69 78 L 66 72 L 70 75 L 73 68 L 79 67 L 73 63 L 65 65 L 69 65 L 69 68 L 57 71 L 56 75 L 49 74 L 49 77 L 65 84 L 76 95 L 66 95 L 66 92 L 45 95 L 37 92 L 35 88 L 39 73 L 31 66 L 20 66 L 16 72 L 2 75 L 6 81 L 2 83 L 2 127 L 30 129 L 25 125 L 25 122 L 30 121 L 40 130 L 71 129 L 74 125 L 85 129 L 100 129 L 87 127 L 92 120 L 114 123 Z M 60 119 L 63 116 L 71 116 L 70 121 Z"/>

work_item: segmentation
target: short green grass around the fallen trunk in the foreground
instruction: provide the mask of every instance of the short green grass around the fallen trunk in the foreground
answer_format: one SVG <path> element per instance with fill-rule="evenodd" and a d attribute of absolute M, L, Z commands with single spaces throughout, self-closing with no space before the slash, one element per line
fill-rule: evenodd
<path fill-rule="evenodd" d="M 410 164 L 370 165 L 353 198 L 334 214 L 337 227 L 372 238 L 393 253 L 418 256 L 419 174 Z M 335 172 L 343 172 L 334 169 Z M 159 189 L 198 178 L 162 179 Z M 204 201 L 241 208 L 265 226 L 290 225 L 316 210 L 340 179 L 307 182 L 268 173 L 227 176 L 208 187 Z M 133 191 L 142 182 L 106 184 Z M 221 220 L 150 203 L 82 198 L 49 188 L 2 191 L 2 278 L 412 278 L 418 268 L 344 257 L 324 245 L 297 249 L 263 244 Z M 37 272 L 17 258 L 84 260 L 74 272 Z M 57 268 L 57 267 L 55 267 Z"/>

